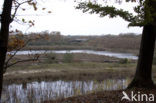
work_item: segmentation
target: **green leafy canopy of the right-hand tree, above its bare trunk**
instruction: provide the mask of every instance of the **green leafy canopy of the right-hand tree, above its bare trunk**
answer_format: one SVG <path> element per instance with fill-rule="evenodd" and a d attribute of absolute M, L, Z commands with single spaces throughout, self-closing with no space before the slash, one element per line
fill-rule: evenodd
<path fill-rule="evenodd" d="M 107 1 L 107 0 L 104 0 Z M 124 9 L 117 9 L 114 6 L 103 6 L 98 4 L 96 0 L 93 1 L 85 1 L 80 2 L 77 9 L 81 9 L 83 12 L 89 12 L 91 14 L 99 14 L 100 17 L 109 16 L 110 18 L 114 18 L 120 16 L 124 20 L 129 22 L 129 26 L 144 26 L 148 23 L 152 23 L 154 17 L 156 17 L 155 9 L 150 6 L 150 1 L 155 0 L 125 0 L 126 2 L 138 2 L 138 5 L 134 7 L 134 12 L 130 13 Z M 121 3 L 122 0 L 116 0 L 116 2 Z"/>

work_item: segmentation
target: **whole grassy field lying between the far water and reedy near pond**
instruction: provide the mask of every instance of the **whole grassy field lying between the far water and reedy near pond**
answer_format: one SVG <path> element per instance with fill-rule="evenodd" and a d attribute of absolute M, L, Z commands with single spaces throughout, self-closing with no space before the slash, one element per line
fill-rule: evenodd
<path fill-rule="evenodd" d="M 28 57 L 16 56 L 15 60 L 17 58 Z M 20 63 L 8 68 L 4 74 L 4 82 L 124 78 L 132 77 L 135 67 L 136 61 L 107 56 L 46 54 L 41 55 L 38 61 Z"/>

